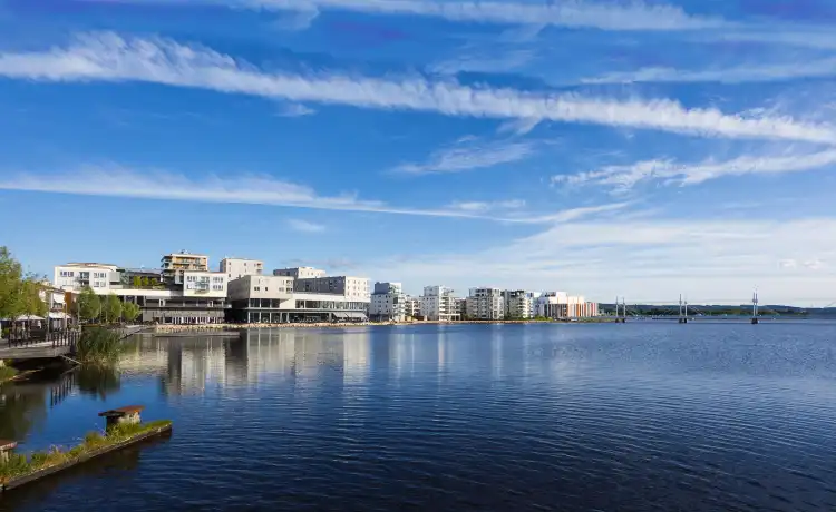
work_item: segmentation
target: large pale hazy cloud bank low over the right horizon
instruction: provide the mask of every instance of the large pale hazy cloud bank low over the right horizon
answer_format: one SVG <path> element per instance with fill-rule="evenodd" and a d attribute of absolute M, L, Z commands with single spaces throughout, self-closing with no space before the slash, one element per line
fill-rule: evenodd
<path fill-rule="evenodd" d="M 836 218 L 798 220 L 607 219 L 565 223 L 534 236 L 460 254 L 416 254 L 376 260 L 376 273 L 410 288 L 444 283 L 467 289 L 567 291 L 611 302 L 761 303 L 834 301 Z M 777 268 L 776 262 L 807 262 Z M 817 268 L 813 272 L 814 268 Z"/>

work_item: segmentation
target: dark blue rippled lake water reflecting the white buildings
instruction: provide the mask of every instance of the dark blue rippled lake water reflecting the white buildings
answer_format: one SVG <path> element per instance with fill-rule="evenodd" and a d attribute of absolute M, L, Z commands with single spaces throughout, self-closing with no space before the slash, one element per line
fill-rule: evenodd
<path fill-rule="evenodd" d="M 139 337 L 6 386 L 29 451 L 142 404 L 174 433 L 0 509 L 836 510 L 836 324 L 665 322 Z"/>

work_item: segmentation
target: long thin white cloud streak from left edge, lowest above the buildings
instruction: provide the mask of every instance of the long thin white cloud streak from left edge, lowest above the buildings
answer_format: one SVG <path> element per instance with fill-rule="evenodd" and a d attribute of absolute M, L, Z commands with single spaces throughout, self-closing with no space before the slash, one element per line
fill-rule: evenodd
<path fill-rule="evenodd" d="M 380 214 L 415 215 L 484 219 L 502 223 L 554 223 L 591 216 L 600 211 L 621 208 L 624 204 L 571 208 L 556 214 L 495 216 L 486 213 L 453 208 L 406 208 L 381 201 L 360 200 L 356 195 L 320 196 L 303 185 L 282 181 L 266 175 L 225 174 L 224 177 L 202 175 L 193 179 L 185 175 L 162 170 L 133 170 L 118 166 L 82 167 L 65 174 L 4 174 L 0 190 L 26 190 L 85 196 L 135 197 L 201 203 L 273 205 L 295 208 L 369 211 Z"/>

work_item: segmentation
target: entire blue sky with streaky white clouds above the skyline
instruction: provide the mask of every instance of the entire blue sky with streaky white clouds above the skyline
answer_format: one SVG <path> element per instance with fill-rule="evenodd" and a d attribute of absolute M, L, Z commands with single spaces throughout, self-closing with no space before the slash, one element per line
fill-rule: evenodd
<path fill-rule="evenodd" d="M 824 0 L 0 0 L 0 244 L 836 301 Z"/>

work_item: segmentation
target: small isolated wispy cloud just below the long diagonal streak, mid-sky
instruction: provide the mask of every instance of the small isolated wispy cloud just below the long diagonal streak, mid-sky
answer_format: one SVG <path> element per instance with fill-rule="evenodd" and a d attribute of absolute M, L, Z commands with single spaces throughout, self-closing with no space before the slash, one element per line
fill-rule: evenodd
<path fill-rule="evenodd" d="M 402 164 L 395 168 L 397 173 L 436 174 L 461 173 L 465 170 L 512 164 L 528 158 L 534 154 L 531 142 L 477 142 L 467 140 L 467 145 L 457 145 L 434 152 L 425 164 Z"/>

